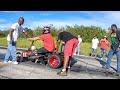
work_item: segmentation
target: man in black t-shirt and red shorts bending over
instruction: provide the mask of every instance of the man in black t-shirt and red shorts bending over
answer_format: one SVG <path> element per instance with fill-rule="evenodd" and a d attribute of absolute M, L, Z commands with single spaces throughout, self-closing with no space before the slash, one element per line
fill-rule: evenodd
<path fill-rule="evenodd" d="M 67 70 L 68 68 L 70 68 L 70 60 L 75 51 L 75 48 L 78 45 L 78 39 L 70 32 L 60 30 L 60 32 L 58 32 L 58 39 L 56 43 L 55 52 L 58 52 L 61 41 L 65 42 L 64 63 L 63 63 L 63 69 L 57 74 L 60 76 L 67 76 Z"/>

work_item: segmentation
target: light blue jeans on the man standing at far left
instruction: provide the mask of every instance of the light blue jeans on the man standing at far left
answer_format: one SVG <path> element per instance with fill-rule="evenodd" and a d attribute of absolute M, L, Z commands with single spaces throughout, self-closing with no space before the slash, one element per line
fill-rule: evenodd
<path fill-rule="evenodd" d="M 12 42 L 12 44 L 10 44 L 10 42 L 8 41 L 8 48 L 5 54 L 5 59 L 4 61 L 8 61 L 10 56 L 12 56 L 12 61 L 16 61 L 16 42 Z"/>

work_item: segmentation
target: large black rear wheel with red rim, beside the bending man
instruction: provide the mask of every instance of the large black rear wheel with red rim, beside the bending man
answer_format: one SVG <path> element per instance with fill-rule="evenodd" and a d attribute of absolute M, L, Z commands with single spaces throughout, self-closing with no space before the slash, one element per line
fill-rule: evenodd
<path fill-rule="evenodd" d="M 53 68 L 53 69 L 57 69 L 60 68 L 62 66 L 62 58 L 60 55 L 58 54 L 52 54 L 48 57 L 48 66 Z"/>

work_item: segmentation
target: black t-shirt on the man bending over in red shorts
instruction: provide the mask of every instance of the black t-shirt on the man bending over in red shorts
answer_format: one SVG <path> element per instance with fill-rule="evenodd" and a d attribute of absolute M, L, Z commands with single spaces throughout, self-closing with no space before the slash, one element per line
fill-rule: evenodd
<path fill-rule="evenodd" d="M 60 32 L 58 35 L 58 40 L 62 40 L 65 43 L 73 38 L 77 39 L 77 37 L 75 37 L 73 34 L 71 34 L 70 32 L 66 32 L 66 31 Z"/>

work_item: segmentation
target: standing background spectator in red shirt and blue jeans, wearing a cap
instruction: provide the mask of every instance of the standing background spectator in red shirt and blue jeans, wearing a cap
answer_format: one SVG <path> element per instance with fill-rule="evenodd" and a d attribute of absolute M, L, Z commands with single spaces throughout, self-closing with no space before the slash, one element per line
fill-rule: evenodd
<path fill-rule="evenodd" d="M 100 49 L 101 49 L 101 60 L 104 58 L 104 56 L 107 57 L 107 50 L 108 50 L 108 39 L 106 36 L 104 36 L 100 40 Z"/>

